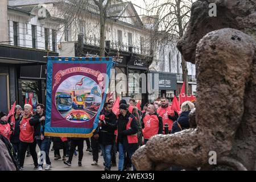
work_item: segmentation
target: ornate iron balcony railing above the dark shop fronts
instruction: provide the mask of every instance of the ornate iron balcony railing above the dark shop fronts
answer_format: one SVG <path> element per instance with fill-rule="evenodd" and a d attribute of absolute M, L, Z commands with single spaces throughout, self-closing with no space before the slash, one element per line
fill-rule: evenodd
<path fill-rule="evenodd" d="M 106 40 L 106 42 L 108 42 L 106 48 L 117 49 L 119 51 L 133 52 L 141 55 L 150 55 L 150 47 L 141 48 L 140 45 L 135 46 L 131 45 L 130 43 L 123 44 L 122 42 L 112 42 L 110 40 Z M 97 39 L 96 36 L 84 36 L 84 44 L 100 47 L 100 39 Z"/>

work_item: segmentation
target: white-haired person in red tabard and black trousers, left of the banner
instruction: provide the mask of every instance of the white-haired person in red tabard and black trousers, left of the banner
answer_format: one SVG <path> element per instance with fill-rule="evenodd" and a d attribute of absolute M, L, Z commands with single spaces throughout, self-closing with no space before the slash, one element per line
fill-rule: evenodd
<path fill-rule="evenodd" d="M 24 105 L 24 115 L 20 121 L 20 150 L 19 150 L 19 169 L 23 170 L 23 164 L 27 147 L 30 147 L 30 153 L 34 161 L 34 169 L 38 169 L 38 154 L 36 154 L 36 140 L 34 138 L 34 127 L 31 126 L 30 119 L 32 117 L 32 106 L 30 104 Z"/>

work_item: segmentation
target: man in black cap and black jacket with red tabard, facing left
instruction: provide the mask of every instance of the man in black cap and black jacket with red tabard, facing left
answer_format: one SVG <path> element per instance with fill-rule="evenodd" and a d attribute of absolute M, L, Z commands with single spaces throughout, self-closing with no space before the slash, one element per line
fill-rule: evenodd
<path fill-rule="evenodd" d="M 117 144 L 119 152 L 118 170 L 122 171 L 123 163 L 125 160 L 125 152 L 127 152 L 129 159 L 138 148 L 138 123 L 136 122 L 134 115 L 130 114 L 126 104 L 119 106 L 119 112 L 117 119 Z M 135 170 L 134 166 L 133 169 Z"/>

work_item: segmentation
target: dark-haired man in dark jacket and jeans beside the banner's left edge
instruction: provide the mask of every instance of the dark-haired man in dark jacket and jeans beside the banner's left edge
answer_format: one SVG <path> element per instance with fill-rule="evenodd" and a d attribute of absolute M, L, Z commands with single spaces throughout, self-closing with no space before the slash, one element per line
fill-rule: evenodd
<path fill-rule="evenodd" d="M 46 170 L 51 169 L 51 161 L 49 159 L 49 148 L 51 146 L 51 138 L 44 136 L 44 125 L 46 122 L 45 107 L 43 104 L 36 105 L 36 114 L 30 119 L 30 125 L 34 126 L 34 135 L 36 143 L 41 151 L 40 158 L 46 159 Z M 43 161 L 40 160 L 39 171 L 43 170 Z"/>

